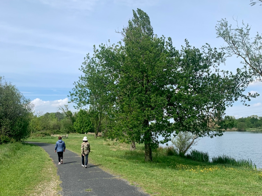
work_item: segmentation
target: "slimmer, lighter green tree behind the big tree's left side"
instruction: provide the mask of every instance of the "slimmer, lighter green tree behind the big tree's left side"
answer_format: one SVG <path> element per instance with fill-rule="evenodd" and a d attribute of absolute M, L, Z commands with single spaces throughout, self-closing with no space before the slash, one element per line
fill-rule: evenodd
<path fill-rule="evenodd" d="M 74 106 L 76 109 L 83 109 L 89 106 L 89 114 L 91 121 L 95 128 L 95 137 L 97 137 L 98 132 L 101 129 L 101 123 L 107 115 L 109 109 L 110 100 L 108 94 L 108 84 L 112 82 L 113 70 L 104 70 L 101 66 L 104 59 L 110 59 L 114 55 L 114 52 L 107 50 L 107 56 L 97 57 L 95 56 L 98 50 L 94 47 L 94 57 L 90 58 L 88 55 L 83 62 L 83 65 L 79 69 L 84 73 L 84 75 L 79 77 L 79 81 L 75 82 L 75 87 L 70 91 L 70 100 L 76 103 Z M 114 60 L 111 60 L 114 64 Z M 112 65 L 114 67 L 114 65 Z"/>

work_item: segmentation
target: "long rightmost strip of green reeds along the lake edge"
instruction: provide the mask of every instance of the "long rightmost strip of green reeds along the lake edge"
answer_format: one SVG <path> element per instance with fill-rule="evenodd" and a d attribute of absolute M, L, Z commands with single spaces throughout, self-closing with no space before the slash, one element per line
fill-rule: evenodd
<path fill-rule="evenodd" d="M 223 154 L 222 156 L 218 155 L 217 157 L 212 157 L 212 162 L 213 163 L 219 163 L 219 164 L 228 164 L 228 165 L 232 165 L 232 166 L 256 170 L 256 165 L 253 164 L 252 160 L 249 160 L 249 159 L 237 159 L 236 160 L 236 159 L 229 157 L 225 154 Z"/>

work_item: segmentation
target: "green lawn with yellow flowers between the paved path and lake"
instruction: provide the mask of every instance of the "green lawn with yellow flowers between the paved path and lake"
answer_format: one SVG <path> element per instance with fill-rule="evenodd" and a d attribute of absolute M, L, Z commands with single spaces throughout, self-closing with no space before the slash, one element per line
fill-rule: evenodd
<path fill-rule="evenodd" d="M 67 149 L 80 155 L 83 134 L 69 134 Z M 201 163 L 156 150 L 152 163 L 144 162 L 144 146 L 130 151 L 129 145 L 106 142 L 87 135 L 91 145 L 89 158 L 104 170 L 128 180 L 151 195 L 163 196 L 239 196 L 262 195 L 262 172 L 235 166 Z M 57 138 L 34 139 L 55 143 Z M 66 153 L 66 151 L 65 151 Z M 79 160 L 80 161 L 80 160 Z"/>

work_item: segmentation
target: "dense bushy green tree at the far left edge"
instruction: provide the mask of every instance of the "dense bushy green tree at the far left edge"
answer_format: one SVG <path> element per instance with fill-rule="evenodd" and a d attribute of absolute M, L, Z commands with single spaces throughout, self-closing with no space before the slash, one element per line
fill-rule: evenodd
<path fill-rule="evenodd" d="M 0 143 L 29 136 L 33 105 L 11 83 L 0 77 Z"/>

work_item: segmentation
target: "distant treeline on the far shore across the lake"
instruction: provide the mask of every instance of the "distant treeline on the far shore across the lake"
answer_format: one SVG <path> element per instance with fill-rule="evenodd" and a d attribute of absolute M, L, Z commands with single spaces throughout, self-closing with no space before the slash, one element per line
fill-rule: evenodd
<path fill-rule="evenodd" d="M 225 122 L 220 125 L 222 129 L 236 128 L 244 131 L 247 128 L 262 128 L 262 117 L 252 115 L 236 119 L 234 116 L 225 116 Z"/>

